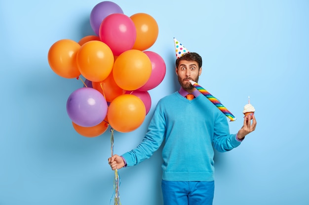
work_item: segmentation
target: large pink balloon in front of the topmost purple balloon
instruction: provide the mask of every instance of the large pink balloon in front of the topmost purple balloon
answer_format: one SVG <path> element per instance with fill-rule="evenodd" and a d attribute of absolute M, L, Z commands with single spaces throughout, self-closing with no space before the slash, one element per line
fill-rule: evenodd
<path fill-rule="evenodd" d="M 133 48 L 136 28 L 130 17 L 116 13 L 106 17 L 100 26 L 100 40 L 106 43 L 115 56 Z"/>

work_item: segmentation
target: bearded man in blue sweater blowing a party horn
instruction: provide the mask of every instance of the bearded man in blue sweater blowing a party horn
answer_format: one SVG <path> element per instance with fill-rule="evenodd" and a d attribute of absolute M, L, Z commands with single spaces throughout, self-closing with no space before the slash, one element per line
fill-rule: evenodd
<path fill-rule="evenodd" d="M 198 82 L 201 72 L 202 59 L 197 53 L 179 57 L 176 75 L 180 90 L 159 100 L 148 132 L 137 148 L 109 158 L 113 170 L 134 166 L 151 157 L 164 141 L 164 205 L 212 205 L 214 148 L 229 151 L 256 127 L 254 115 L 249 116 L 237 134 L 230 134 L 227 117 L 189 82 Z M 194 98 L 187 99 L 187 94 Z"/>

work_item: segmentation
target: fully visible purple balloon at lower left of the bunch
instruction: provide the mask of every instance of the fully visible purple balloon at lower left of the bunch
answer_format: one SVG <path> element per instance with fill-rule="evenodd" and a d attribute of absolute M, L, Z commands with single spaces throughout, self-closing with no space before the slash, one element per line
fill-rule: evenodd
<path fill-rule="evenodd" d="M 79 126 L 93 127 L 101 123 L 107 114 L 104 96 L 94 88 L 79 88 L 67 100 L 67 113 Z"/>

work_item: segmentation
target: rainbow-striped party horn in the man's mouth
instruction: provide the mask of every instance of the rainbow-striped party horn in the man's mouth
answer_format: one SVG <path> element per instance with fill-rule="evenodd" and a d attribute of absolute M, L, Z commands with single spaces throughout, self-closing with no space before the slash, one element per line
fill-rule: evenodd
<path fill-rule="evenodd" d="M 219 110 L 221 110 L 221 112 L 226 115 L 227 117 L 229 117 L 231 119 L 231 121 L 235 121 L 236 117 L 233 116 L 233 114 L 224 106 L 221 104 L 221 102 L 215 98 L 212 94 L 210 94 L 206 89 L 202 88 L 200 85 L 198 85 L 196 82 L 191 81 L 190 83 L 200 92 L 202 93 L 204 96 L 207 97 L 208 100 L 210 100 L 210 102 L 212 102 Z"/>

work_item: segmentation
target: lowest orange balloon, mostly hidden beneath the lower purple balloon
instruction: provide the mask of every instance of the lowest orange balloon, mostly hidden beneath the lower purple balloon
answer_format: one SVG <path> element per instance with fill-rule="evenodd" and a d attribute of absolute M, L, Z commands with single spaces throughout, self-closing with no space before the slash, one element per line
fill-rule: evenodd
<path fill-rule="evenodd" d="M 105 120 L 103 120 L 100 124 L 95 125 L 93 127 L 82 127 L 74 122 L 72 122 L 72 124 L 75 131 L 77 131 L 78 134 L 84 137 L 97 137 L 99 135 L 102 135 L 109 127 L 109 123 Z"/>

